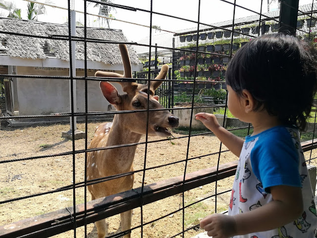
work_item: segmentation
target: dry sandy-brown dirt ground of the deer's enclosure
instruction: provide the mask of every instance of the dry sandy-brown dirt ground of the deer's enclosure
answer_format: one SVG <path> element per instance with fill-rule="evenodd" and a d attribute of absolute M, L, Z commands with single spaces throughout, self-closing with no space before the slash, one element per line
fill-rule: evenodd
<path fill-rule="evenodd" d="M 88 123 L 88 143 L 98 122 Z M 77 123 L 79 130 L 85 130 L 84 123 Z M 60 152 L 72 151 L 72 141 L 61 138 L 61 132 L 69 130 L 69 124 L 51 124 L 28 127 L 1 127 L 0 130 L 0 161 L 27 158 L 32 156 L 52 155 Z M 174 137 L 184 136 L 173 133 Z M 151 136 L 149 141 L 161 139 Z M 141 138 L 145 141 L 145 136 Z M 219 140 L 214 136 L 199 135 L 181 139 L 166 140 L 149 143 L 147 146 L 146 167 L 165 165 L 170 162 L 186 158 L 189 142 L 188 158 L 201 156 L 188 162 L 187 173 L 206 169 L 217 164 L 218 155 L 204 156 L 219 151 Z M 85 149 L 85 139 L 75 141 L 75 149 Z M 226 149 L 222 146 L 222 149 Z M 307 155 L 309 156 L 309 155 Z M 76 182 L 84 180 L 85 154 L 75 155 Z M 143 169 L 145 158 L 145 145 L 139 145 L 136 151 L 134 168 Z M 221 153 L 220 164 L 235 161 L 237 158 L 231 152 Z M 315 160 L 316 161 L 316 160 Z M 316 163 L 316 162 L 315 162 Z M 72 155 L 54 156 L 48 158 L 15 161 L 0 164 L 0 201 L 52 191 L 58 187 L 70 185 L 73 182 L 73 157 Z M 163 166 L 146 172 L 147 184 L 183 175 L 185 163 Z M 140 187 L 143 173 L 135 174 L 134 187 Z M 233 178 L 222 179 L 217 183 L 217 192 L 231 188 Z M 211 183 L 185 192 L 185 205 L 199 199 L 208 197 L 215 192 L 215 184 Z M 45 214 L 51 211 L 72 206 L 73 191 L 63 191 L 24 200 L 0 204 L 0 225 L 16 222 L 25 218 Z M 84 189 L 76 190 L 76 204 L 84 202 Z M 229 193 L 218 195 L 216 199 L 217 212 L 227 210 Z M 90 200 L 90 194 L 87 194 Z M 148 204 L 143 207 L 143 223 L 153 221 L 163 215 L 171 213 L 182 207 L 182 194 L 174 195 L 166 199 Z M 199 220 L 215 210 L 214 197 L 197 203 L 185 209 L 185 229 L 196 225 Z M 134 209 L 132 227 L 141 225 L 141 209 Z M 182 212 L 177 212 L 157 222 L 153 222 L 143 228 L 144 238 L 165 238 L 182 231 Z M 107 219 L 108 233 L 113 234 L 119 229 L 119 215 Z M 185 233 L 186 238 L 194 237 L 203 232 L 200 229 L 190 230 Z M 73 231 L 69 231 L 54 237 L 72 238 Z M 76 236 L 84 237 L 84 228 L 76 230 Z M 94 224 L 87 226 L 87 237 L 97 237 Z M 141 230 L 132 232 L 132 238 L 140 238 Z M 177 236 L 180 238 L 181 236 Z"/>

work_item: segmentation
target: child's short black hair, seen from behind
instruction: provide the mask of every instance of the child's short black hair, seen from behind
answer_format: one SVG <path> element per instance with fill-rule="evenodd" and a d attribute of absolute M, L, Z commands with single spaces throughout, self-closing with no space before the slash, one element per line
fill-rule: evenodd
<path fill-rule="evenodd" d="M 256 100 L 256 111 L 266 110 L 303 130 L 317 90 L 317 51 L 294 36 L 258 37 L 234 55 L 226 84 L 240 96 L 248 90 Z"/>

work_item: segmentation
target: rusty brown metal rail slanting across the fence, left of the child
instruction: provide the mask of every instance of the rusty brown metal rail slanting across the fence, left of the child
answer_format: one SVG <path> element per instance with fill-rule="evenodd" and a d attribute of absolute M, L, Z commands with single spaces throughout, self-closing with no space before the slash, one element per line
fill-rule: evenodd
<path fill-rule="evenodd" d="M 183 176 L 174 177 L 144 186 L 143 196 L 141 187 L 125 192 L 113 194 L 104 198 L 76 206 L 76 226 L 92 223 L 115 214 L 128 211 L 141 205 L 146 205 L 160 199 L 199 187 L 218 179 L 224 179 L 235 174 L 238 161 L 187 174 L 185 183 Z M 85 213 L 87 216 L 84 216 Z M 73 229 L 71 218 L 73 207 L 61 209 L 51 213 L 28 218 L 0 227 L 1 238 L 12 238 L 31 234 L 28 237 L 50 237 Z M 42 232 L 41 232 L 42 231 Z M 34 234 L 32 234 L 34 233 Z"/>

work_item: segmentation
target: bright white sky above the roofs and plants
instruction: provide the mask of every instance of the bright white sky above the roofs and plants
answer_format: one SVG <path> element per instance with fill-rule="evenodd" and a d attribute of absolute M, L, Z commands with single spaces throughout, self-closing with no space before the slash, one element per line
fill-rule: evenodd
<path fill-rule="evenodd" d="M 27 1 L 25 0 L 13 0 L 18 8 L 22 10 L 22 18 L 26 19 Z M 45 0 L 38 0 L 39 2 L 45 2 Z M 61 6 L 67 8 L 67 0 L 50 0 L 55 6 Z M 228 2 L 234 2 L 234 0 L 227 0 Z M 269 0 L 271 1 L 271 0 Z M 144 9 L 150 11 L 151 0 L 112 0 L 115 4 L 130 6 L 133 8 Z M 154 12 L 164 13 L 167 15 L 173 15 L 188 20 L 198 21 L 198 2 L 199 0 L 153 0 L 152 9 Z M 225 20 L 230 20 L 233 17 L 233 5 L 223 2 L 221 0 L 200 0 L 200 22 L 206 24 L 212 24 Z M 313 0 L 300 0 L 299 4 L 309 4 Z M 243 7 L 247 7 L 253 11 L 260 12 L 261 0 L 236 0 L 236 4 Z M 316 4 L 316 0 L 315 0 Z M 87 12 L 98 14 L 98 8 L 93 7 L 94 3 L 91 3 L 87 7 Z M 71 8 L 79 11 L 84 11 L 83 0 L 71 0 Z M 46 6 L 47 14 L 40 15 L 38 21 L 51 22 L 63 24 L 67 21 L 67 10 L 53 8 Z M 277 9 L 277 1 L 270 4 L 271 10 Z M 0 11 L 4 11 L 0 9 Z M 267 0 L 263 0 L 262 12 L 267 12 Z M 116 19 L 133 22 L 141 25 L 150 25 L 151 14 L 142 10 L 132 11 L 127 9 L 116 8 L 116 11 L 110 12 Z M 236 7 L 235 18 L 241 18 L 245 16 L 256 15 L 256 13 L 249 10 L 245 10 Z M 97 17 L 88 16 L 88 26 L 99 27 L 96 21 Z M 84 22 L 84 16 L 82 13 L 76 13 L 76 21 Z M 188 29 L 191 27 L 197 27 L 196 23 L 189 21 L 173 19 L 168 16 L 161 16 L 158 14 L 152 14 L 152 25 L 159 26 L 161 30 L 174 32 L 177 30 Z M 150 35 L 150 28 L 144 26 L 138 26 L 125 22 L 112 20 L 110 27 L 113 29 L 120 29 L 129 41 L 137 42 Z M 164 31 L 157 31 L 152 29 L 153 34 L 162 34 Z"/>

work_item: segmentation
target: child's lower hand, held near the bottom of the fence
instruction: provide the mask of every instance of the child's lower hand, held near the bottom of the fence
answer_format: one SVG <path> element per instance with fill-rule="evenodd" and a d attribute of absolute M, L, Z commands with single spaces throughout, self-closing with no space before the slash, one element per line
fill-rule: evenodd
<path fill-rule="evenodd" d="M 209 237 L 229 238 L 235 235 L 236 226 L 232 216 L 212 214 L 200 221 L 200 227 L 207 231 Z"/>

